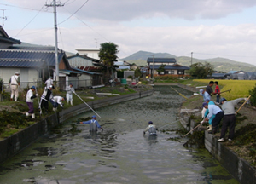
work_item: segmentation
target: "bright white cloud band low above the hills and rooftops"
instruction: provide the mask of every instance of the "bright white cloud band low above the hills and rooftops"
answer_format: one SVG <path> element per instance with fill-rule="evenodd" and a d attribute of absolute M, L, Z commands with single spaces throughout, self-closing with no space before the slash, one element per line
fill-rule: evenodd
<path fill-rule="evenodd" d="M 88 27 L 61 28 L 59 47 L 75 53 L 76 48 L 95 48 L 96 42 L 113 42 L 119 45 L 119 58 L 131 55 L 139 50 L 149 52 L 167 52 L 177 56 L 190 56 L 198 59 L 225 57 L 237 61 L 255 63 L 256 26 L 176 26 L 176 27 L 125 27 L 95 26 L 100 37 Z M 28 32 L 28 31 L 26 31 Z M 34 31 L 31 31 L 34 32 Z M 29 32 L 28 32 L 29 33 Z M 27 43 L 54 45 L 53 30 L 29 34 L 19 39 Z M 95 40 L 96 39 L 96 40 Z"/>

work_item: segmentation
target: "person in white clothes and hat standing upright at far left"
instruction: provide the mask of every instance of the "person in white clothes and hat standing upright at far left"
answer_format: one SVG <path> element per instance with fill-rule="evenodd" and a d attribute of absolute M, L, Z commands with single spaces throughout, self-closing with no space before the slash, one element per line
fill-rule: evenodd
<path fill-rule="evenodd" d="M 15 72 L 15 75 L 13 75 L 11 78 L 9 78 L 9 87 L 11 89 L 11 96 L 10 100 L 13 101 L 13 98 L 15 97 L 15 101 L 18 100 L 19 97 L 19 89 L 20 86 L 20 73 Z"/>

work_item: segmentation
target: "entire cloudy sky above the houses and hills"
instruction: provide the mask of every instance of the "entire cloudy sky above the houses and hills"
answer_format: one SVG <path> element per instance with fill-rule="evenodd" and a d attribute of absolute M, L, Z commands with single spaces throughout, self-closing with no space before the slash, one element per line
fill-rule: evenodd
<path fill-rule="evenodd" d="M 55 45 L 50 0 L 2 0 L 4 30 L 21 42 Z M 63 0 L 58 45 L 119 45 L 119 58 L 143 50 L 197 59 L 224 57 L 256 65 L 255 0 Z M 73 16 L 72 16 L 73 15 Z M 0 11 L 3 17 L 3 11 Z M 3 19 L 0 24 L 2 25 Z"/>

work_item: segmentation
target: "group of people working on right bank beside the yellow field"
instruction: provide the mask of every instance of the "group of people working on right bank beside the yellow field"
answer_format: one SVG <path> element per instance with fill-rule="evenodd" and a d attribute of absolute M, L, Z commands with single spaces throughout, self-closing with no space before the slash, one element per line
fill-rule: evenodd
<path fill-rule="evenodd" d="M 202 117 L 204 118 L 201 121 L 201 124 L 204 122 L 209 123 L 208 132 L 211 134 L 216 134 L 218 131 L 218 124 L 223 119 L 222 129 L 220 138 L 218 141 L 224 141 L 225 133 L 227 129 L 230 127 L 230 133 L 228 136 L 228 141 L 232 141 L 235 135 L 235 125 L 236 125 L 236 112 L 235 106 L 239 101 L 247 101 L 247 98 L 238 98 L 233 101 L 227 101 L 225 98 L 220 98 L 220 90 L 218 87 L 218 82 L 215 82 L 216 88 L 215 92 L 212 91 L 213 81 L 210 81 L 209 85 L 207 85 L 206 89 L 200 89 L 200 95 L 203 96 L 203 110 Z M 211 95 L 217 95 L 217 101 L 214 103 L 211 101 Z M 220 107 L 219 107 L 220 106 Z"/>

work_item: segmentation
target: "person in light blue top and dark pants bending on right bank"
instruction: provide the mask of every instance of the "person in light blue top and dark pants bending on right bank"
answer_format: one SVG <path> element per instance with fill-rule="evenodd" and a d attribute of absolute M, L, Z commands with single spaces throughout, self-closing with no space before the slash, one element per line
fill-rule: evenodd
<path fill-rule="evenodd" d="M 206 102 L 203 103 L 203 106 L 209 110 L 209 113 L 207 115 L 207 118 L 205 118 L 201 123 L 209 121 L 209 119 L 211 119 L 212 116 L 215 115 L 215 118 L 212 119 L 212 132 L 209 132 L 209 134 L 216 134 L 218 130 L 218 124 L 224 117 L 224 112 L 218 106 L 212 104 L 210 105 Z"/>

